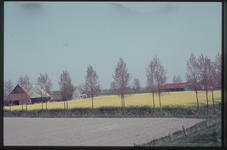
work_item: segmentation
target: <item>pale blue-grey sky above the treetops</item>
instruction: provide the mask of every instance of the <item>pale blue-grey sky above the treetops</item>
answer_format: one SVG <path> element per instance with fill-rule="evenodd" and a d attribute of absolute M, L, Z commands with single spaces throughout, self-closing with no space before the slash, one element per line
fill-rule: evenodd
<path fill-rule="evenodd" d="M 4 81 L 47 73 L 59 90 L 63 70 L 79 86 L 91 65 L 109 89 L 121 57 L 145 87 L 157 55 L 167 83 L 186 82 L 191 53 L 221 54 L 221 25 L 220 2 L 4 2 Z"/>

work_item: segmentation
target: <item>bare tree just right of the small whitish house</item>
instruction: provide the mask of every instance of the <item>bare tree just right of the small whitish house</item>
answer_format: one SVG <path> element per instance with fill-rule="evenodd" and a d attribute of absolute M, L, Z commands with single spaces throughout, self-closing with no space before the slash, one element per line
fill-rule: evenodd
<path fill-rule="evenodd" d="M 92 99 L 92 113 L 94 114 L 94 103 L 93 98 L 100 93 L 101 85 L 98 82 L 99 76 L 96 71 L 92 68 L 91 65 L 87 68 L 87 76 L 85 77 L 85 84 L 83 85 L 83 89 L 85 90 L 87 95 L 90 95 Z"/>

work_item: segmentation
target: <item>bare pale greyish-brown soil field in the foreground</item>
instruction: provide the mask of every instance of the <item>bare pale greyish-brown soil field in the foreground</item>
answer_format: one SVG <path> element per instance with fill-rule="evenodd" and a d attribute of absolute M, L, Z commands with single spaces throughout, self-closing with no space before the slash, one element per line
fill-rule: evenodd
<path fill-rule="evenodd" d="M 181 118 L 4 118 L 4 146 L 133 146 L 203 121 Z"/>

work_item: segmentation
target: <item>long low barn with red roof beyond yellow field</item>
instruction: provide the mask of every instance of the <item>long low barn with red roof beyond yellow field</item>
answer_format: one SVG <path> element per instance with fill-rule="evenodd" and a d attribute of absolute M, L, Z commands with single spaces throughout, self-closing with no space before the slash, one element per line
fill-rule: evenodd
<path fill-rule="evenodd" d="M 164 89 L 165 91 L 191 91 L 192 86 L 190 83 L 170 83 L 165 84 L 161 89 Z"/>

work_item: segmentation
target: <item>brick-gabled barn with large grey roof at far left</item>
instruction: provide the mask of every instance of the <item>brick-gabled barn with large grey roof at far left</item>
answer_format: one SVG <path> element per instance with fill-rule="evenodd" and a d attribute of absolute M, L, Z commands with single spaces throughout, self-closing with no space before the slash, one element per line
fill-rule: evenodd
<path fill-rule="evenodd" d="M 47 102 L 50 95 L 40 85 L 17 85 L 5 99 L 13 105 L 34 104 Z"/>

